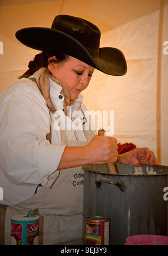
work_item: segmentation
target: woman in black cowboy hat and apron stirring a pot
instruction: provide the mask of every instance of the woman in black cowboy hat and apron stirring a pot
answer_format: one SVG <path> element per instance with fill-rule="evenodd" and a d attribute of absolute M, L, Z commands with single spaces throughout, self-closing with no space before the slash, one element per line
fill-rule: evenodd
<path fill-rule="evenodd" d="M 42 52 L 0 98 L 6 244 L 11 216 L 30 209 L 40 215 L 43 244 L 77 239 L 82 236 L 81 166 L 116 161 L 152 165 L 157 159 L 148 148 L 118 156 L 117 140 L 95 135 L 85 116 L 80 93 L 94 68 L 109 75 L 127 72 L 122 52 L 99 48 L 100 30 L 94 24 L 58 15 L 51 29 L 21 29 L 16 37 Z"/>

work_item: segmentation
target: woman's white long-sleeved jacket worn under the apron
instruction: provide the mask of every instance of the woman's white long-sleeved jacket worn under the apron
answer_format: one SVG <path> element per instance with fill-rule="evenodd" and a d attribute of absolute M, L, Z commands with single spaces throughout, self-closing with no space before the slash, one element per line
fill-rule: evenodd
<path fill-rule="evenodd" d="M 50 80 L 50 95 L 60 111 L 63 120 L 69 124 L 82 120 L 76 116 L 81 106 L 82 95 L 69 108 L 69 117 L 63 114 L 63 97 L 59 98 L 61 87 Z M 52 144 L 46 140 L 52 117 Z M 88 120 L 85 120 L 88 122 Z M 64 121 L 63 121 L 64 122 Z M 82 124 L 81 122 L 81 124 Z M 72 120 L 71 120 L 72 124 Z M 70 140 L 86 140 L 83 130 L 67 129 Z M 78 124 L 78 121 L 76 122 Z M 3 188 L 2 204 L 15 205 L 34 194 L 41 184 L 50 188 L 58 176 L 57 167 L 66 145 L 62 145 L 58 122 L 49 113 L 45 99 L 38 86 L 30 79 L 21 79 L 0 95 L 0 187 Z M 66 126 L 66 125 L 65 125 Z M 48 179 L 50 177 L 50 179 Z"/>

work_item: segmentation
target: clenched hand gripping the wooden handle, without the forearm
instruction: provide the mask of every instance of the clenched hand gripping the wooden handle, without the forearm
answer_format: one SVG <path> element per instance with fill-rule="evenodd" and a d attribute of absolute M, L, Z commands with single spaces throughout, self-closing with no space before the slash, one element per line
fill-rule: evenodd
<path fill-rule="evenodd" d="M 88 163 L 113 163 L 117 160 L 118 145 L 113 137 L 95 135 L 85 149 Z"/>

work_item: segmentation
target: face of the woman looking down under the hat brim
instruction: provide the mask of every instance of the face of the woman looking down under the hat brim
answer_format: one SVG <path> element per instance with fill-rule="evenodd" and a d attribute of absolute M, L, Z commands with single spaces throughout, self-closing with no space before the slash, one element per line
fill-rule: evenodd
<path fill-rule="evenodd" d="M 87 88 L 94 72 L 93 67 L 71 56 L 64 62 L 50 63 L 48 69 L 69 91 L 72 100 L 77 99 L 82 90 Z"/>

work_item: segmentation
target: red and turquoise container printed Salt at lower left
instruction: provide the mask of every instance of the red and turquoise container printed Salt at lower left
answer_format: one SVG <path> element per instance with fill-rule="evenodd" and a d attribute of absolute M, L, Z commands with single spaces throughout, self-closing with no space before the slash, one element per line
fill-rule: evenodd
<path fill-rule="evenodd" d="M 31 221 L 11 220 L 11 245 L 14 244 L 39 244 L 39 218 Z"/>

